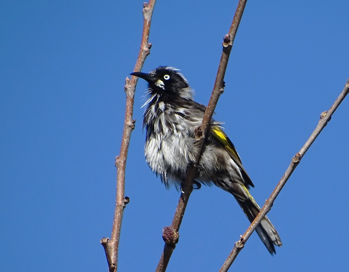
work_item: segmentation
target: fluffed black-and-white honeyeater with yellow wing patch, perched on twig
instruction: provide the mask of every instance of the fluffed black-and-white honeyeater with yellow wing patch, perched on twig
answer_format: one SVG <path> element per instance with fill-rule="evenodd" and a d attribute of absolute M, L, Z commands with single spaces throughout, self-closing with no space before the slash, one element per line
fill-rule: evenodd
<path fill-rule="evenodd" d="M 183 184 L 189 164 L 200 152 L 195 130 L 200 126 L 206 106 L 193 99 L 193 90 L 179 69 L 159 66 L 149 73 L 133 72 L 149 84 L 143 114 L 146 130 L 144 156 L 150 169 L 169 188 Z M 223 131 L 223 123 L 210 120 L 202 156 L 194 178 L 198 184 L 216 185 L 231 193 L 252 222 L 260 207 L 249 192 L 254 187 L 235 146 Z M 268 217 L 256 228 L 270 254 L 281 239 Z"/>

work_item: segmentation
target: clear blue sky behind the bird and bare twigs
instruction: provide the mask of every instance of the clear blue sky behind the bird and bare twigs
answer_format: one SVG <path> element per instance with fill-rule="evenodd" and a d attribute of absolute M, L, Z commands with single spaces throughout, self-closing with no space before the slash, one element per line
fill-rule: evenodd
<path fill-rule="evenodd" d="M 0 271 L 107 271 L 125 77 L 143 1 L 3 1 L 0 10 Z M 161 1 L 148 72 L 181 69 L 207 104 L 237 1 Z M 263 204 L 349 77 L 348 1 L 248 1 L 215 119 Z M 179 193 L 143 157 L 144 81 L 126 169 L 119 271 L 154 271 Z M 348 271 L 349 98 L 277 198 L 276 256 L 253 234 L 231 271 Z M 169 272 L 218 271 L 249 223 L 228 193 L 194 191 Z"/>

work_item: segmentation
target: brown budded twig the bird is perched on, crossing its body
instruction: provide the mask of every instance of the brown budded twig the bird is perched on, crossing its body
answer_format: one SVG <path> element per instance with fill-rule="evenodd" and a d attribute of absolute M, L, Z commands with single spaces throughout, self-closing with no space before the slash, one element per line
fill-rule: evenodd
<path fill-rule="evenodd" d="M 217 71 L 217 76 L 216 76 L 215 84 L 213 87 L 213 91 L 212 91 L 205 115 L 203 116 L 201 126 L 198 128 L 196 135 L 195 135 L 195 138 L 198 141 L 199 149 L 201 151 L 202 151 L 203 142 L 204 142 L 207 130 L 208 130 L 209 122 L 212 118 L 214 109 L 217 105 L 218 98 L 220 97 L 220 95 L 223 93 L 223 90 L 224 90 L 223 89 L 224 88 L 223 79 L 224 79 L 225 71 L 227 69 L 229 55 L 230 55 L 231 48 L 233 46 L 236 32 L 237 32 L 238 27 L 239 27 L 239 23 L 240 23 L 241 18 L 242 18 L 242 14 L 244 12 L 244 8 L 246 6 L 246 2 L 247 2 L 247 0 L 240 0 L 239 1 L 238 7 L 237 7 L 235 15 L 234 15 L 234 19 L 233 19 L 231 26 L 230 26 L 230 29 L 229 29 L 229 33 L 224 36 L 223 50 L 222 50 L 220 63 L 218 66 L 218 71 Z M 200 161 L 201 151 L 196 156 L 195 163 L 188 166 L 188 168 L 187 168 L 186 180 L 184 182 L 183 187 L 181 188 L 182 193 L 179 197 L 176 212 L 173 216 L 173 220 L 172 220 L 172 224 L 171 224 L 172 233 L 174 236 L 178 236 L 178 230 L 179 230 L 180 224 L 181 224 L 182 219 L 183 219 L 185 208 L 187 206 L 190 194 L 193 191 L 193 180 L 194 180 L 197 166 L 198 166 L 199 161 Z M 166 267 L 168 265 L 168 262 L 170 260 L 171 255 L 172 255 L 174 246 L 178 241 L 178 238 L 172 239 L 175 242 L 171 242 L 171 239 L 168 239 L 168 237 L 163 236 L 163 238 L 165 241 L 164 250 L 162 252 L 162 256 L 161 256 L 159 263 L 157 265 L 157 268 L 155 270 L 156 272 L 163 272 L 166 270 Z"/>

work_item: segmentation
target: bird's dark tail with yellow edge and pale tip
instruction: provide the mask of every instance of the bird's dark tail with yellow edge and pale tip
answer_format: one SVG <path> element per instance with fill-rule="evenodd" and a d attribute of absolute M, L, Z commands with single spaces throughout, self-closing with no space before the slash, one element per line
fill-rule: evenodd
<path fill-rule="evenodd" d="M 232 184 L 230 193 L 235 196 L 235 199 L 239 203 L 240 207 L 243 209 L 248 220 L 252 223 L 257 214 L 260 211 L 260 207 L 257 202 L 253 199 L 250 192 L 246 186 L 234 183 Z M 263 244 L 267 247 L 268 251 L 273 255 L 276 253 L 274 245 L 282 246 L 281 239 L 277 233 L 272 222 L 265 216 L 256 228 L 259 238 L 262 240 Z"/>

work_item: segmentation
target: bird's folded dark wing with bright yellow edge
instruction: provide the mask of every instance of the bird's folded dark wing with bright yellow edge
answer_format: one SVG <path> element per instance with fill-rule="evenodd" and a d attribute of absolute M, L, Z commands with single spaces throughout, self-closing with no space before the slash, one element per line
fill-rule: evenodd
<path fill-rule="evenodd" d="M 211 126 L 211 133 L 213 137 L 224 146 L 225 150 L 228 151 L 230 157 L 240 168 L 242 176 L 245 180 L 245 185 L 254 187 L 251 178 L 248 176 L 246 170 L 244 169 L 244 166 L 242 166 L 240 156 L 236 151 L 235 146 L 230 141 L 227 134 L 225 134 L 219 126 Z"/>

